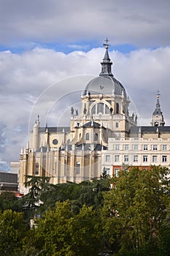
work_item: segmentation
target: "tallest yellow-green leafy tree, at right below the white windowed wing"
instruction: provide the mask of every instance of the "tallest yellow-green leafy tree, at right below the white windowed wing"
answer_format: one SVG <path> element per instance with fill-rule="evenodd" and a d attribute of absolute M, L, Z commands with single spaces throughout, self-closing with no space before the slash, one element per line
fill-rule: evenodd
<path fill-rule="evenodd" d="M 169 204 L 169 170 L 123 170 L 112 179 L 113 189 L 104 195 L 101 211 L 107 246 L 119 253 L 158 249 L 159 230 Z M 149 255 L 149 254 L 148 254 Z"/>

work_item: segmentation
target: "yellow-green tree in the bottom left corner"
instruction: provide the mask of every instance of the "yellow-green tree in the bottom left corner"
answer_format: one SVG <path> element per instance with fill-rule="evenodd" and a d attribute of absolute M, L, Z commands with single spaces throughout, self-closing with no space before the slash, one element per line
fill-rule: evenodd
<path fill-rule="evenodd" d="M 23 238 L 26 236 L 26 223 L 23 214 L 12 210 L 0 213 L 0 255 L 23 255 Z"/>

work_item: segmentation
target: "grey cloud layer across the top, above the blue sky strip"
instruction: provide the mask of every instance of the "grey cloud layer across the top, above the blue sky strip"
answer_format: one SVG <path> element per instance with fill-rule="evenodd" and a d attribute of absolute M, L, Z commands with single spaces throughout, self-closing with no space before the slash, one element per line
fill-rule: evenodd
<path fill-rule="evenodd" d="M 101 43 L 109 36 L 114 44 L 165 46 L 170 43 L 169 9 L 169 0 L 1 1 L 0 44 Z"/>

